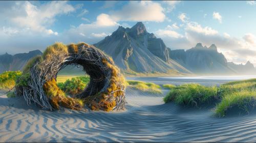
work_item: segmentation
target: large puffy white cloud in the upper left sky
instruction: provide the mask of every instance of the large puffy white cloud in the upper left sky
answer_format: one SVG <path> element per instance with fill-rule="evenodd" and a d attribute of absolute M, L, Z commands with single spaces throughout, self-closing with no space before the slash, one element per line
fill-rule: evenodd
<path fill-rule="evenodd" d="M 39 7 L 26 1 L 24 4 L 16 3 L 12 10 L 15 14 L 10 19 L 16 26 L 29 28 L 29 30 L 35 32 L 56 35 L 56 32 L 47 29 L 48 25 L 55 21 L 55 16 L 70 13 L 75 9 L 66 1 L 52 1 Z M 22 14 L 17 15 L 16 13 L 20 11 L 22 11 Z"/>

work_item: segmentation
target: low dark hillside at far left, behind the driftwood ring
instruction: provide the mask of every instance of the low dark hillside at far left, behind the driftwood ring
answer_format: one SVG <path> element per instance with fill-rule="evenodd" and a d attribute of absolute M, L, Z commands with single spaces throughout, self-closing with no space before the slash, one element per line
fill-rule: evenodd
<path fill-rule="evenodd" d="M 27 62 L 36 55 L 41 55 L 40 50 L 33 50 L 29 53 L 2 54 L 0 55 L 0 73 L 5 71 L 23 70 Z"/>

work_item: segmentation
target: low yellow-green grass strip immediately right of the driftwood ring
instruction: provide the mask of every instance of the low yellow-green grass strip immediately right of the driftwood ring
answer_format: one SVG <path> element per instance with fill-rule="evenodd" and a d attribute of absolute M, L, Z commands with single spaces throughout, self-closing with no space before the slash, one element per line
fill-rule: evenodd
<path fill-rule="evenodd" d="M 143 92 L 162 93 L 160 85 L 152 82 L 128 80 L 126 81 L 126 85 Z"/>

